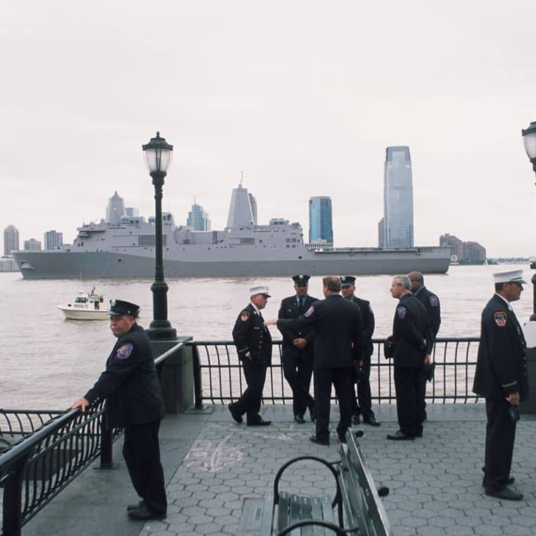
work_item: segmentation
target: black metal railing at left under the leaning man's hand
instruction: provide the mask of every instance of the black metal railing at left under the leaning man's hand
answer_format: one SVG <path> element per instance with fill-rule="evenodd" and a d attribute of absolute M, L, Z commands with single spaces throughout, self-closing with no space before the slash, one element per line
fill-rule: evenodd
<path fill-rule="evenodd" d="M 159 377 L 166 360 L 182 347 L 173 346 L 155 360 Z M 109 430 L 105 422 L 104 401 L 84 413 L 0 410 L 2 536 L 20 535 L 23 525 L 99 456 L 102 468 L 112 465 L 112 445 L 123 430 Z"/>

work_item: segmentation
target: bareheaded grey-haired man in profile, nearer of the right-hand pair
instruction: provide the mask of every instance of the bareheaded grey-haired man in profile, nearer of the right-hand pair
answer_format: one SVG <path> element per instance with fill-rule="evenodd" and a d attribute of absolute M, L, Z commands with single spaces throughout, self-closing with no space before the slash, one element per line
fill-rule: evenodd
<path fill-rule="evenodd" d="M 407 276 L 396 276 L 391 296 L 399 301 L 393 322 L 394 386 L 399 429 L 387 439 L 422 437 L 420 385 L 422 368 L 430 360 L 430 322 L 425 306 L 410 292 Z"/>

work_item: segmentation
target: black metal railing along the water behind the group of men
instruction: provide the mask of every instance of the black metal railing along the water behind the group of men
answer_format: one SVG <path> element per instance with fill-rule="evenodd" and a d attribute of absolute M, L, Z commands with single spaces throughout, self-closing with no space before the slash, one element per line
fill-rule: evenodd
<path fill-rule="evenodd" d="M 372 400 L 394 403 L 393 364 L 392 360 L 384 358 L 384 341 L 372 340 Z M 471 388 L 478 341 L 478 337 L 437 339 L 433 353 L 435 376 L 427 388 L 428 402 L 468 403 L 477 400 Z M 236 400 L 246 385 L 233 341 L 191 341 L 187 344 L 193 347 L 195 408 L 202 408 L 204 402 L 227 403 Z M 263 403 L 292 403 L 292 391 L 284 379 L 281 365 L 281 341 L 274 341 L 273 344 L 272 366 L 267 370 Z M 334 393 L 331 396 L 335 400 Z"/>

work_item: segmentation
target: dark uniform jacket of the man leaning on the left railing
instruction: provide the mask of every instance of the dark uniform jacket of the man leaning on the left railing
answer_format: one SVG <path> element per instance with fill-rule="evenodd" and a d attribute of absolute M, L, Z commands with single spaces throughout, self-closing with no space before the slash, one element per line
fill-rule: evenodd
<path fill-rule="evenodd" d="M 162 389 L 149 337 L 138 324 L 118 337 L 106 360 L 106 370 L 84 398 L 106 398 L 109 427 L 154 422 L 164 417 Z"/>

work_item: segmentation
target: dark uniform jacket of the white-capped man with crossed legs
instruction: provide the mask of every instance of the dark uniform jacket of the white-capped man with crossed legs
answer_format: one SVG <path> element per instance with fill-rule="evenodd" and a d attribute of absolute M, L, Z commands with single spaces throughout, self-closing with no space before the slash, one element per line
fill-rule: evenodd
<path fill-rule="evenodd" d="M 248 359 L 267 367 L 272 364 L 272 336 L 264 326 L 264 320 L 250 303 L 238 315 L 233 327 L 233 341 L 238 351 L 238 359 Z"/>

